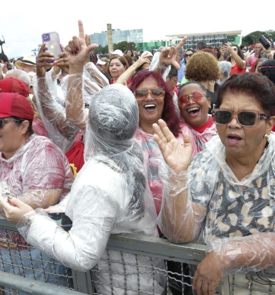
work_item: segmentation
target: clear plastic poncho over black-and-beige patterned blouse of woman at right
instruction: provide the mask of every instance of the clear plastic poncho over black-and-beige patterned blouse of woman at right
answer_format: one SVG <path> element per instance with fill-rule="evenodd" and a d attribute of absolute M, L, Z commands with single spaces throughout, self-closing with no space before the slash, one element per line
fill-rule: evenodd
<path fill-rule="evenodd" d="M 214 136 L 206 143 L 206 149 L 192 160 L 186 181 L 180 176 L 174 181 L 178 185 L 171 181 L 172 192 L 180 183 L 186 185 L 182 185 L 185 194 L 179 203 L 170 192 L 169 199 L 165 199 L 167 205 L 162 208 L 162 214 L 169 212 L 167 216 L 171 220 L 166 218 L 166 222 L 174 229 L 169 238 L 180 241 L 180 237 L 185 242 L 192 227 L 194 239 L 207 244 L 208 251 L 214 251 L 218 261 L 226 266 L 226 273 L 274 267 L 274 159 L 275 135 L 272 133 L 253 172 L 238 180 L 226 163 L 220 138 Z M 181 194 L 175 191 L 174 195 L 178 198 Z M 195 207 L 199 210 L 194 210 Z M 196 213 L 199 222 L 193 224 Z M 164 221 L 162 218 L 162 226 Z"/>

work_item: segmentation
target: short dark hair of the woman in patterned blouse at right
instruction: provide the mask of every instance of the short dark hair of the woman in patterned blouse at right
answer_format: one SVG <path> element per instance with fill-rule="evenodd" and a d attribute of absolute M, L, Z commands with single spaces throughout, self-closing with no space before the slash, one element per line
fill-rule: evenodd
<path fill-rule="evenodd" d="M 230 77 L 217 91 L 216 108 L 220 108 L 228 92 L 248 94 L 256 99 L 268 115 L 275 115 L 275 86 L 262 74 L 244 73 Z"/>

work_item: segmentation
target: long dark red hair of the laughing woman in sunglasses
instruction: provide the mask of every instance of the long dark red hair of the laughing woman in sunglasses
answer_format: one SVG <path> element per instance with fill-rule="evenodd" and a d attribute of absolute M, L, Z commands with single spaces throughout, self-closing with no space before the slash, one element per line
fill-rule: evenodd
<path fill-rule="evenodd" d="M 134 92 L 140 83 L 149 78 L 154 79 L 158 86 L 164 87 L 165 89 L 162 119 L 165 120 L 168 128 L 171 130 L 174 136 L 177 137 L 179 135 L 179 118 L 175 110 L 172 94 L 170 93 L 169 87 L 165 83 L 162 76 L 155 71 L 140 71 L 131 81 L 129 88 L 132 92 Z"/>

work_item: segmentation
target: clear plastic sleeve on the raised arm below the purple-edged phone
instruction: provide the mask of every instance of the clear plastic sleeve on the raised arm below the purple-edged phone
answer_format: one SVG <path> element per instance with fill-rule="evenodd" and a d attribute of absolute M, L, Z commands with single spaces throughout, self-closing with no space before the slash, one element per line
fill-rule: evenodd
<path fill-rule="evenodd" d="M 48 136 L 63 152 L 71 146 L 78 128 L 66 118 L 65 108 L 55 97 L 55 83 L 51 75 L 34 77 L 36 106 L 47 130 Z"/>

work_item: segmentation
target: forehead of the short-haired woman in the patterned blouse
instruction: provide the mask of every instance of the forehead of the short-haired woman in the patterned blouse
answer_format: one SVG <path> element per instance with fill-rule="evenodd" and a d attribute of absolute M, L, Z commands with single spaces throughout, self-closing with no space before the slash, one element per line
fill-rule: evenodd
<path fill-rule="evenodd" d="M 265 113 L 257 98 L 244 92 L 226 92 L 223 95 L 220 109 L 229 109 L 234 112 L 239 110 L 253 110 Z"/>

